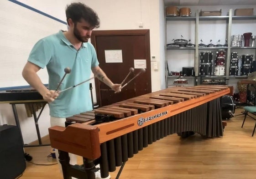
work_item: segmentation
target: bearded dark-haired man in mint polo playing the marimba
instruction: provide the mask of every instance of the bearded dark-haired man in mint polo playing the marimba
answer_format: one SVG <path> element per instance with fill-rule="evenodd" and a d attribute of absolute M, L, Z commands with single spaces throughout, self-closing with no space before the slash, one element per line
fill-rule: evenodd
<path fill-rule="evenodd" d="M 101 70 L 95 49 L 88 42 L 92 30 L 99 27 L 98 15 L 82 3 L 72 3 L 67 6 L 66 17 L 68 31 L 59 31 L 39 40 L 22 72 L 25 80 L 49 102 L 51 126 L 64 126 L 67 117 L 92 110 L 89 83 L 59 92 L 89 79 L 91 71 L 115 92 L 121 89 L 120 84 L 111 82 Z M 44 67 L 49 75 L 49 89 L 37 75 Z M 70 159 L 70 164 L 76 164 L 76 156 L 70 155 Z M 96 179 L 101 179 L 99 174 L 95 174 Z"/>

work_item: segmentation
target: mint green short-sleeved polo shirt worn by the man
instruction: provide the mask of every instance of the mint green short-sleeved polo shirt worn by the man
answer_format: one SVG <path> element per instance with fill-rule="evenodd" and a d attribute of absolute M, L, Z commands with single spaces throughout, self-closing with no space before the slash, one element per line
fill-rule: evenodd
<path fill-rule="evenodd" d="M 41 68 L 47 68 L 50 90 L 56 89 L 65 74 L 66 67 L 71 68 L 71 72 L 66 75 L 59 90 L 89 79 L 91 67 L 99 65 L 91 43 L 83 43 L 77 51 L 62 31 L 39 40 L 32 48 L 28 61 Z M 61 92 L 54 102 L 49 103 L 50 116 L 67 118 L 92 110 L 89 83 L 85 82 Z"/>

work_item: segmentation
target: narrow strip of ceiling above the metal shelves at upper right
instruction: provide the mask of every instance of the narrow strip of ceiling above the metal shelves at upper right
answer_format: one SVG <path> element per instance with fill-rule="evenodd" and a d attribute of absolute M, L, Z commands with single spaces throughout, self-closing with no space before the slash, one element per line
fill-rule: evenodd
<path fill-rule="evenodd" d="M 256 5 L 256 0 L 163 0 L 164 5 Z"/>

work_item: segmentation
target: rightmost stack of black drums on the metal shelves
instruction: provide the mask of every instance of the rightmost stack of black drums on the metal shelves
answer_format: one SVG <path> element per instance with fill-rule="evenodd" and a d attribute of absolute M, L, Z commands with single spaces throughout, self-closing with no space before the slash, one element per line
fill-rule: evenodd
<path fill-rule="evenodd" d="M 242 55 L 241 76 L 247 76 L 253 72 L 253 55 Z"/>

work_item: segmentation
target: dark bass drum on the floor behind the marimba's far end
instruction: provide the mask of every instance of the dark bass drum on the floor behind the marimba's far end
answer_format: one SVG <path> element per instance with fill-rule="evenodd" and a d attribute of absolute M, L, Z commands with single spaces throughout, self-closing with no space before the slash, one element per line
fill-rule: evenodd
<path fill-rule="evenodd" d="M 230 119 L 235 113 L 235 103 L 232 96 L 224 95 L 221 97 L 221 116 L 222 119 Z"/>

